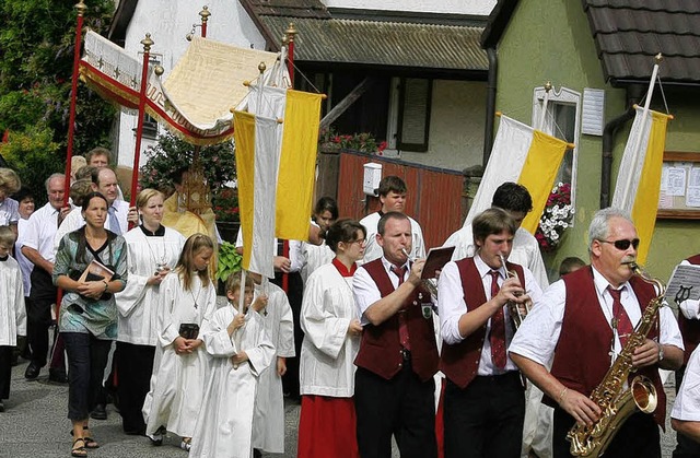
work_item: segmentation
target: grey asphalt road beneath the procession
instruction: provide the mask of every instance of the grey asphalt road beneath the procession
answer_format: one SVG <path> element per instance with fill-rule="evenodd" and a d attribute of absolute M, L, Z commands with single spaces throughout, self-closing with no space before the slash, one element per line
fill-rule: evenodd
<path fill-rule="evenodd" d="M 50 384 L 46 368 L 38 380 L 26 381 L 25 368 L 26 363 L 13 367 L 10 399 L 4 402 L 5 412 L 0 413 L 0 457 L 69 457 L 71 426 L 66 418 L 68 386 Z M 673 380 L 666 388 L 670 411 L 675 398 Z M 298 402 L 287 403 L 287 453 L 266 455 L 267 458 L 291 458 L 296 455 L 299 410 Z M 153 447 L 145 437 L 125 435 L 121 432 L 121 419 L 114 407 L 108 406 L 107 411 L 107 420 L 91 421 L 93 436 L 101 444 L 98 449 L 90 450 L 91 458 L 187 457 L 179 449 L 178 437 L 167 437 L 162 447 Z M 675 441 L 675 432 L 667 425 L 666 433 L 662 435 L 663 457 L 670 457 Z M 398 456 L 396 451 L 394 455 Z"/>

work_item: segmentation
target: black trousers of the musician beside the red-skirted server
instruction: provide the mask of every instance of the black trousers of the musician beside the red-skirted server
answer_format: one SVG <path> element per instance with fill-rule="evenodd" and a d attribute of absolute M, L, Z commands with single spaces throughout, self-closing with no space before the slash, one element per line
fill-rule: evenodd
<path fill-rule="evenodd" d="M 421 381 L 410 361 L 390 380 L 358 367 L 354 406 L 362 458 L 390 458 L 392 435 L 401 458 L 436 458 L 435 384 Z"/>

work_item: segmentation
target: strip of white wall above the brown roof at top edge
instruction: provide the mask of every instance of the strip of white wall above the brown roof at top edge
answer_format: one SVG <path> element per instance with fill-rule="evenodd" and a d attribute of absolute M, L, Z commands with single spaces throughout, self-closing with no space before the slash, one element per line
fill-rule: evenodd
<path fill-rule="evenodd" d="M 488 15 L 495 0 L 323 0 L 328 8 Z"/>

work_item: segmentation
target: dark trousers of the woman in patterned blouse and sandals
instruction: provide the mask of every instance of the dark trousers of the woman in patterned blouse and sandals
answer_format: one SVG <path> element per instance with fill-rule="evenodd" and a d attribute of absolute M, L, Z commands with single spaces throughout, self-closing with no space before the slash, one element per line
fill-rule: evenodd
<path fill-rule="evenodd" d="M 97 403 L 112 340 L 83 332 L 61 332 L 68 352 L 68 418 L 85 420 Z"/>

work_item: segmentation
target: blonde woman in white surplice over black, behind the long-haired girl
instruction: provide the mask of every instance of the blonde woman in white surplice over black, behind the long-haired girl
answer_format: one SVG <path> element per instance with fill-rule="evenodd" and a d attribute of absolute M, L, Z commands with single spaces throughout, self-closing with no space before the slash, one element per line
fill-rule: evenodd
<path fill-rule="evenodd" d="M 129 282 L 117 301 L 117 367 L 119 371 L 119 414 L 127 434 L 145 434 L 143 401 L 153 373 L 158 344 L 160 285 L 177 265 L 185 237 L 161 224 L 163 195 L 143 189 L 136 199 L 141 225 L 127 232 Z"/>

